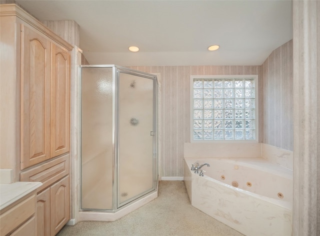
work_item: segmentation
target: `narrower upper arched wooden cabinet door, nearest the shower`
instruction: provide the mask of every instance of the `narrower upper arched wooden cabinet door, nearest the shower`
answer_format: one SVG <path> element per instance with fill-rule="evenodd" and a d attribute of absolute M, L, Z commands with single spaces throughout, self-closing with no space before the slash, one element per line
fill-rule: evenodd
<path fill-rule="evenodd" d="M 51 44 L 51 157 L 70 146 L 70 52 Z"/>

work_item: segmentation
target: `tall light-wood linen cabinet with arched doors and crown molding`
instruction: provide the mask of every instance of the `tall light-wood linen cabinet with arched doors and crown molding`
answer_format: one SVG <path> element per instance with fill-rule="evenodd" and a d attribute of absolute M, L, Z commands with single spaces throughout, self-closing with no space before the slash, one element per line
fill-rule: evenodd
<path fill-rule="evenodd" d="M 15 108 L 8 109 L 20 121 L 10 134 L 19 150 L 10 163 L 20 181 L 43 183 L 37 189 L 36 232 L 55 235 L 70 219 L 72 46 L 14 4 L 0 5 L 0 14 L 1 47 L 8 49 L 1 49 L 1 70 L 8 70 L 1 80 L 15 81 Z"/>

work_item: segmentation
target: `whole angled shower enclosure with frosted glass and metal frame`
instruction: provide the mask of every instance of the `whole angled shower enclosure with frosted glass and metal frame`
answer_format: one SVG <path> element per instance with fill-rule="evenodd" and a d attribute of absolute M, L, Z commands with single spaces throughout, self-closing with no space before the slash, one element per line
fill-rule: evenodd
<path fill-rule="evenodd" d="M 115 212 L 157 188 L 157 79 L 83 65 L 81 209 Z"/>

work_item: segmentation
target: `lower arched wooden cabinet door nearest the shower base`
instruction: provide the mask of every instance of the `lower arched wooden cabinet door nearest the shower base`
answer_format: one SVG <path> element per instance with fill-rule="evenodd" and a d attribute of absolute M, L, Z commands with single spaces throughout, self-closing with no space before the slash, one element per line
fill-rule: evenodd
<path fill-rule="evenodd" d="M 55 235 L 70 219 L 69 176 L 50 187 L 51 235 Z"/>

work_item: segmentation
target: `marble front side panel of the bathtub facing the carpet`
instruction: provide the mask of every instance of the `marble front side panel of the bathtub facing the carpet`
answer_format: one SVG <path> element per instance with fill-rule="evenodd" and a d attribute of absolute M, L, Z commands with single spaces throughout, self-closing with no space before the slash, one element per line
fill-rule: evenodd
<path fill-rule="evenodd" d="M 192 177 L 191 204 L 204 213 L 245 235 L 292 234 L 291 209 L 273 205 L 218 181 Z"/>

